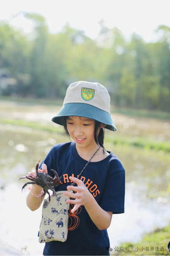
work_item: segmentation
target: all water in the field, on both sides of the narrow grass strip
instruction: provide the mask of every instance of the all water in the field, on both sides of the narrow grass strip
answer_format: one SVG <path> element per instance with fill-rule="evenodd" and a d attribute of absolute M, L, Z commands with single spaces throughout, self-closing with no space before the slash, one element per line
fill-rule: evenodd
<path fill-rule="evenodd" d="M 0 102 L 0 119 L 50 121 L 59 106 L 27 106 Z M 169 120 L 130 118 L 113 115 L 118 131 L 112 136 L 139 136 L 157 141 L 170 140 Z M 50 134 L 0 124 L 0 255 L 42 256 L 38 242 L 41 208 L 32 212 L 26 206 L 28 186 L 19 180 L 35 167 L 56 143 L 68 141 L 62 134 Z M 61 127 L 60 127 L 61 129 Z M 110 134 L 110 132 L 109 132 Z M 116 135 L 117 134 L 117 135 Z M 111 248 L 121 242 L 138 242 L 142 236 L 166 226 L 170 221 L 170 154 L 106 144 L 126 171 L 125 213 L 113 214 L 108 229 Z M 156 246 L 159 246 L 156 245 Z"/>

